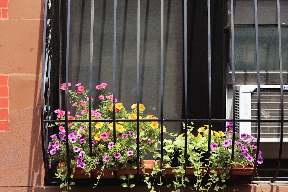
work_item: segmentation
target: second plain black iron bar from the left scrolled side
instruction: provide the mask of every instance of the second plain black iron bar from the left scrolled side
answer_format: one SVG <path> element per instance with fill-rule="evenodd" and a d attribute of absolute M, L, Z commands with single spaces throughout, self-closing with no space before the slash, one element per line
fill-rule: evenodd
<path fill-rule="evenodd" d="M 89 66 L 89 155 L 92 156 L 92 64 L 93 64 L 93 33 L 94 33 L 94 0 L 91 0 L 90 24 L 90 66 Z"/>

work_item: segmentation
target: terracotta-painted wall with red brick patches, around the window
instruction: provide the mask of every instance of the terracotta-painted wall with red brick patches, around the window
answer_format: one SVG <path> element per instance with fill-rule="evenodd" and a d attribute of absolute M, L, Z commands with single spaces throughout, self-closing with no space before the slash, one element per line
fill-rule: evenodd
<path fill-rule="evenodd" d="M 45 187 L 40 136 L 40 88 L 44 0 L 0 0 L 0 191 L 54 192 Z M 232 187 L 232 188 L 231 188 Z M 230 189 L 229 189 L 230 188 Z M 226 191 L 232 191 L 229 186 Z M 238 191 L 261 191 L 257 185 Z M 73 191 L 95 191 L 75 187 Z M 121 186 L 96 190 L 126 191 Z M 264 191 L 288 191 L 262 185 Z M 145 186 L 133 191 L 148 191 Z"/>

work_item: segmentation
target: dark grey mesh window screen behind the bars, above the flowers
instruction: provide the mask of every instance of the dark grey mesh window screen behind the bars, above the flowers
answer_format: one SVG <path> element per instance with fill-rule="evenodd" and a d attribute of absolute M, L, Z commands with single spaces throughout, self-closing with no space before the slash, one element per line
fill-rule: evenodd
<path fill-rule="evenodd" d="M 91 1 L 71 1 L 69 82 L 89 89 Z M 96 109 L 96 85 L 113 90 L 114 1 L 95 0 L 92 98 Z M 164 118 L 182 118 L 183 40 L 182 1 L 164 1 Z M 160 118 L 161 102 L 161 1 L 141 0 L 140 9 L 140 103 L 144 115 Z M 137 103 L 137 1 L 117 1 L 116 98 L 131 111 Z M 165 123 L 180 131 L 181 123 Z"/>

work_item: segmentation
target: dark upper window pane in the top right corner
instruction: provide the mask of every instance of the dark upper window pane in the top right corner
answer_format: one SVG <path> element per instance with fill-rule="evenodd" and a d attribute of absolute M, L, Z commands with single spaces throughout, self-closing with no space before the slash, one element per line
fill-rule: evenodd
<path fill-rule="evenodd" d="M 255 25 L 254 1 L 234 0 L 234 24 Z M 288 1 L 280 0 L 281 24 L 288 23 Z M 277 1 L 258 0 L 258 24 L 277 24 Z M 231 24 L 231 0 L 228 1 L 228 24 Z"/>

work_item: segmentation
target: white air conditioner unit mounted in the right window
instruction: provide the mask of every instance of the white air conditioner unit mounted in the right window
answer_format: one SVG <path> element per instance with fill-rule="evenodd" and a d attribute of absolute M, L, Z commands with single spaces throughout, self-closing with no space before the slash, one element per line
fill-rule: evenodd
<path fill-rule="evenodd" d="M 283 85 L 284 119 L 288 118 L 288 85 Z M 232 85 L 226 90 L 226 118 L 232 119 Z M 261 119 L 281 119 L 280 85 L 260 85 Z M 257 138 L 257 122 L 237 122 L 237 119 L 257 119 L 257 85 L 235 85 L 235 115 L 239 136 L 243 133 Z M 260 142 L 279 142 L 281 122 L 261 122 Z M 288 123 L 284 122 L 283 141 L 288 142 Z"/>

